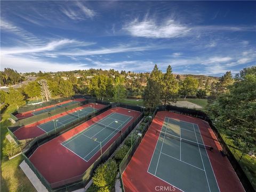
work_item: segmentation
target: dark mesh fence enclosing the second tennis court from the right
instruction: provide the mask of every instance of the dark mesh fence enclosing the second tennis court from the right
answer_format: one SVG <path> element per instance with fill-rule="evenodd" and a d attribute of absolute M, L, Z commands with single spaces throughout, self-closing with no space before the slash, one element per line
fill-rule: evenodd
<path fill-rule="evenodd" d="M 100 101 L 99 101 L 100 102 Z M 127 135 L 133 130 L 133 128 L 140 122 L 142 117 L 144 116 L 144 111 L 137 106 L 129 106 L 125 105 L 123 103 L 113 103 L 112 105 L 108 105 L 108 107 L 105 107 L 97 113 L 91 115 L 90 117 L 87 117 L 84 119 L 84 121 L 89 120 L 90 118 L 99 115 L 103 111 L 108 110 L 109 108 L 115 108 L 115 107 L 123 107 L 128 108 L 131 110 L 137 110 L 142 111 L 139 117 L 135 119 L 135 121 L 127 127 L 127 129 L 116 139 L 114 143 L 112 143 L 111 146 L 108 147 L 108 149 L 82 174 L 78 175 L 77 177 L 70 178 L 67 180 L 59 181 L 56 183 L 49 183 L 47 180 L 43 177 L 43 175 L 36 169 L 36 167 L 29 161 L 29 157 L 34 153 L 34 151 L 41 145 L 43 145 L 45 142 L 58 137 L 63 132 L 54 133 L 52 135 L 47 135 L 47 137 L 44 138 L 38 138 L 37 140 L 33 140 L 29 143 L 29 146 L 26 147 L 25 150 L 23 150 L 23 156 L 25 157 L 26 163 L 29 165 L 31 170 L 34 171 L 34 173 L 37 175 L 37 177 L 42 181 L 43 185 L 49 190 L 49 191 L 73 191 L 79 188 L 82 188 L 87 185 L 87 183 L 91 180 L 93 172 L 95 169 L 97 169 L 98 165 L 107 161 L 107 159 L 111 156 L 111 154 L 114 153 L 114 151 L 117 149 L 117 147 L 124 141 Z M 73 129 L 76 125 L 71 126 L 69 129 L 65 130 L 68 131 L 70 129 Z"/>

